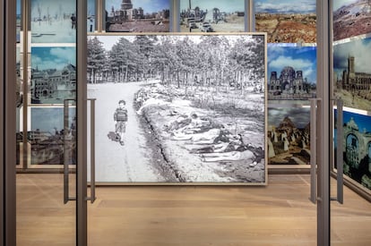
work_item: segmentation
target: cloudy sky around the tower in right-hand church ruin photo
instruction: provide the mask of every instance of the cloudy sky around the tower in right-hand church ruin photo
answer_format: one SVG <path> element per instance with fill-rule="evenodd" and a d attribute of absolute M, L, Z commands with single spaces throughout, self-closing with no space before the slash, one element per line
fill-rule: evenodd
<path fill-rule="evenodd" d="M 353 40 L 333 46 L 333 72 L 341 79 L 348 70 L 348 57 L 354 56 L 356 72 L 371 73 L 371 38 Z"/>

